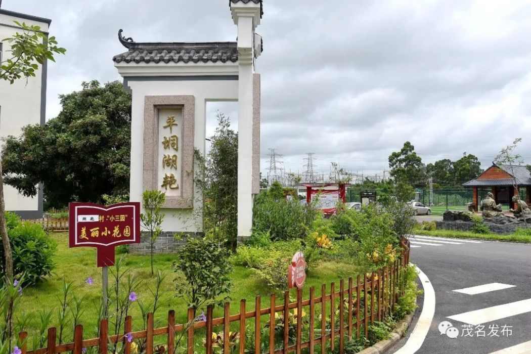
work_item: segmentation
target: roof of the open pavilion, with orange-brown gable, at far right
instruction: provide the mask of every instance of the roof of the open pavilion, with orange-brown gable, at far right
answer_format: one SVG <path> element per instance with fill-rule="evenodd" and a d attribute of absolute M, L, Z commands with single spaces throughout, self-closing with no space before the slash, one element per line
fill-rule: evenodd
<path fill-rule="evenodd" d="M 505 172 L 506 178 L 491 178 L 489 170 L 492 168 L 499 168 Z M 465 187 L 489 187 L 489 186 L 512 186 L 513 179 L 519 186 L 531 186 L 531 172 L 526 166 L 510 166 L 510 165 L 493 165 L 487 168 L 481 175 L 464 183 Z"/>

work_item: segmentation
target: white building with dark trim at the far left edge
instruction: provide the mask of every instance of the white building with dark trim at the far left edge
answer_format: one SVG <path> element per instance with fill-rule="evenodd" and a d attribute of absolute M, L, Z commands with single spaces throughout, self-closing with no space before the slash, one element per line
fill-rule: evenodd
<path fill-rule="evenodd" d="M 12 37 L 21 28 L 13 21 L 40 26 L 48 33 L 52 20 L 0 9 L 0 40 Z M 2 60 L 10 57 L 8 43 L 0 42 Z M 28 124 L 44 124 L 46 114 L 46 72 L 47 63 L 39 67 L 35 77 L 28 81 L 20 79 L 10 84 L 0 81 L 0 139 L 8 135 L 20 135 L 21 128 Z M 35 197 L 24 197 L 15 188 L 4 185 L 7 211 L 14 211 L 24 219 L 42 217 L 42 188 Z"/>

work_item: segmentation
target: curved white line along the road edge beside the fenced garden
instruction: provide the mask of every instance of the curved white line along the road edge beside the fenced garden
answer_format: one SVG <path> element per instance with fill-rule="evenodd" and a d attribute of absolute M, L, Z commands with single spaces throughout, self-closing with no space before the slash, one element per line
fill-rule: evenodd
<path fill-rule="evenodd" d="M 406 344 L 397 350 L 395 354 L 413 354 L 421 348 L 428 331 L 430 331 L 433 314 L 435 313 L 435 291 L 433 290 L 432 283 L 419 267 L 415 266 L 415 268 L 424 289 L 424 304 L 421 315 L 418 316 L 417 324 L 409 335 Z"/>

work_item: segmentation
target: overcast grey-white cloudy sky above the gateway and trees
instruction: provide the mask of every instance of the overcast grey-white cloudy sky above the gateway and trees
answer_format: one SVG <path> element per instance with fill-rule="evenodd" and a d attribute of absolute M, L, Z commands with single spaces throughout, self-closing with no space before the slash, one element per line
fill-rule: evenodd
<path fill-rule="evenodd" d="M 231 41 L 227 0 L 3 0 L 52 19 L 67 49 L 49 66 L 47 118 L 57 95 L 85 80 L 121 80 L 112 57 L 135 41 Z M 302 171 L 313 152 L 364 173 L 411 141 L 424 162 L 478 156 L 484 167 L 515 137 L 531 162 L 529 0 L 264 0 L 262 170 L 270 148 Z M 235 103 L 209 103 L 237 124 Z"/>

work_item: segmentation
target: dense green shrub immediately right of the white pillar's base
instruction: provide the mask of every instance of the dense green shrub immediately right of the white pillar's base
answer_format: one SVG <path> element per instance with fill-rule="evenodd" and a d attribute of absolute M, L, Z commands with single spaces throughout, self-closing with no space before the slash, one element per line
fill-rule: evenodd
<path fill-rule="evenodd" d="M 269 232 L 272 240 L 305 238 L 316 211 L 296 201 L 257 197 L 253 209 L 253 232 Z"/>

